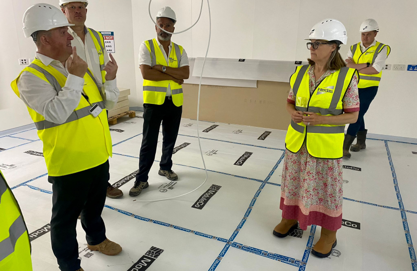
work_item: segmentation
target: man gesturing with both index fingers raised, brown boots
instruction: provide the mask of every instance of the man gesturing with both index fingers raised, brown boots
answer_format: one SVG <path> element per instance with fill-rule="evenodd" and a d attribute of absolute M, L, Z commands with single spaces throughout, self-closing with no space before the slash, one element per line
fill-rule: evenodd
<path fill-rule="evenodd" d="M 82 270 L 76 239 L 77 217 L 87 247 L 116 255 L 122 247 L 107 239 L 101 212 L 109 181 L 112 139 L 106 111 L 117 95 L 103 99 L 87 63 L 71 46 L 73 37 L 64 14 L 54 6 L 37 4 L 23 16 L 25 37 L 32 37 L 36 59 L 12 82 L 27 105 L 43 142 L 52 184 L 52 250 L 62 271 Z M 72 58 L 70 57 L 72 54 Z M 117 63 L 106 67 L 106 93 L 116 86 Z"/>

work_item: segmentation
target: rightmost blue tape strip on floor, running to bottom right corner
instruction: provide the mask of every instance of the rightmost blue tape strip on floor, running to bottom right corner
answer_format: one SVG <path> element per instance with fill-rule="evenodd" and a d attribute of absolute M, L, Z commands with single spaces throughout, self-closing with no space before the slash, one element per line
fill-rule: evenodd
<path fill-rule="evenodd" d="M 391 157 L 391 153 L 389 151 L 388 141 L 385 140 L 384 142 L 385 142 L 386 153 L 388 155 L 389 166 L 391 167 L 392 180 L 394 182 L 394 188 L 395 188 L 395 191 L 396 191 L 396 194 L 397 194 L 398 205 L 399 205 L 399 208 L 401 210 L 402 226 L 403 226 L 404 232 L 405 232 L 405 239 L 407 241 L 408 252 L 410 254 L 411 267 L 412 267 L 413 271 L 417 271 L 417 258 L 415 257 L 414 245 L 412 244 L 411 234 L 410 234 L 409 228 L 408 228 L 407 215 L 405 214 L 404 204 L 402 202 L 401 193 L 400 193 L 399 187 L 398 187 L 398 180 L 397 180 L 397 175 L 395 174 L 394 163 L 392 163 L 392 157 Z"/>

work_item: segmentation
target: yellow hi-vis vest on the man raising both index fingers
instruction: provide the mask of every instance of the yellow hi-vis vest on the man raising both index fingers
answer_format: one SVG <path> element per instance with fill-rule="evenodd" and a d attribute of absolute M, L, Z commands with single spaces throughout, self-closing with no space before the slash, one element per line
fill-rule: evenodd
<path fill-rule="evenodd" d="M 23 69 L 50 83 L 57 93 L 65 86 L 67 78 L 52 66 L 45 66 L 35 59 Z M 21 76 L 20 73 L 19 77 Z M 20 97 L 18 80 L 12 82 L 12 88 Z M 105 163 L 112 156 L 112 138 L 105 103 L 101 97 L 97 82 L 90 70 L 84 75 L 84 94 L 78 106 L 68 119 L 62 123 L 53 123 L 28 107 L 29 114 L 38 129 L 38 136 L 43 142 L 43 155 L 49 176 L 64 176 L 94 168 Z M 93 117 L 88 109 L 99 105 L 103 110 Z"/>

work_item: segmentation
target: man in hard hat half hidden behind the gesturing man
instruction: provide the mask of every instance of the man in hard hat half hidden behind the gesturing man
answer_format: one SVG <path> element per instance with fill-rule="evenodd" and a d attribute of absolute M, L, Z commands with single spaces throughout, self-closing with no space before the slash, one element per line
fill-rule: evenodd
<path fill-rule="evenodd" d="M 101 89 L 101 93 L 105 97 L 112 97 L 111 100 L 107 100 L 106 102 L 106 108 L 112 109 L 115 106 L 112 100 L 116 100 L 117 103 L 117 98 L 115 99 L 115 97 L 119 97 L 119 89 L 116 86 L 116 80 L 109 82 L 111 84 L 110 87 L 103 87 L 106 83 L 105 67 L 110 59 L 105 49 L 105 43 L 101 33 L 87 28 L 84 25 L 87 19 L 87 5 L 87 0 L 82 2 L 59 1 L 59 6 L 68 22 L 74 25 L 73 27 L 68 27 L 69 34 L 74 37 L 71 45 L 77 48 L 78 56 L 87 62 L 88 68 L 92 71 L 94 79 Z M 117 199 L 123 196 L 123 192 L 108 183 L 107 196 L 112 199 Z"/>

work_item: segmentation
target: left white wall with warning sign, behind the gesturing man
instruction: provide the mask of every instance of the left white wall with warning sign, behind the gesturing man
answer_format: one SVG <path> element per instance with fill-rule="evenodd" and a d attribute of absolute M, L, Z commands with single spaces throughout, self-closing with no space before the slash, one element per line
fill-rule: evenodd
<path fill-rule="evenodd" d="M 36 46 L 22 31 L 22 17 L 30 6 L 43 2 L 58 6 L 58 0 L 2 0 L 0 9 L 0 130 L 32 123 L 24 103 L 10 87 L 25 67 L 18 64 L 19 58 L 34 58 Z M 136 89 L 135 62 L 133 57 L 133 22 L 130 0 L 90 0 L 87 7 L 86 26 L 97 31 L 114 31 L 119 65 L 118 86 Z M 136 91 L 130 99 L 131 106 L 139 104 Z"/>

